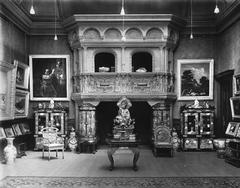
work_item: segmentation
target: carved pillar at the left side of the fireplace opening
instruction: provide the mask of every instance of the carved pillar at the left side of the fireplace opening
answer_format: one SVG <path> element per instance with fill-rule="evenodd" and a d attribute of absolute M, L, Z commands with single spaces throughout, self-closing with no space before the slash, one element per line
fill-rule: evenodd
<path fill-rule="evenodd" d="M 79 106 L 78 130 L 83 137 L 96 136 L 96 107 L 90 103 Z"/>

